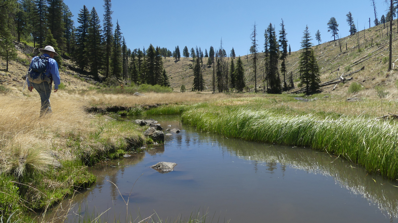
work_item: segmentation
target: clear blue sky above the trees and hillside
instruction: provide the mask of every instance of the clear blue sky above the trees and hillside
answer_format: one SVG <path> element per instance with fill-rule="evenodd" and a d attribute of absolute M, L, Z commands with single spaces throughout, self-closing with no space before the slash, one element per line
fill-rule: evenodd
<path fill-rule="evenodd" d="M 64 0 L 73 13 L 75 25 L 79 10 L 83 5 L 95 7 L 101 18 L 101 0 Z M 375 0 L 378 19 L 386 14 L 384 0 Z M 236 55 L 246 55 L 250 48 L 253 25 L 258 30 L 259 51 L 263 50 L 264 30 L 272 23 L 277 31 L 281 19 L 285 23 L 288 43 L 292 51 L 300 49 L 300 41 L 305 26 L 308 25 L 312 38 L 316 31 L 321 32 L 322 42 L 333 40 L 328 33 L 327 23 L 335 17 L 341 37 L 349 35 L 346 14 L 351 11 L 357 29 L 369 28 L 375 19 L 370 0 L 112 0 L 113 24 L 119 20 L 121 31 L 131 50 L 149 44 L 166 47 L 173 51 L 179 46 L 189 49 L 201 47 L 203 52 L 210 46 L 223 48 L 228 52 L 234 47 Z M 279 32 L 278 32 L 279 33 Z M 312 41 L 314 44 L 316 40 Z M 182 53 L 182 52 L 181 52 Z"/>

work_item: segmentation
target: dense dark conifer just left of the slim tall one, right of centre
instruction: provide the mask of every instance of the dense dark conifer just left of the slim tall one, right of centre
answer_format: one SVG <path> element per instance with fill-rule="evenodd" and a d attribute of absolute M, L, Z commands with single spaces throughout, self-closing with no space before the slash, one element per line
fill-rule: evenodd
<path fill-rule="evenodd" d="M 281 80 L 279 79 L 278 71 L 278 60 L 279 60 L 279 46 L 276 39 L 275 29 L 271 23 L 266 30 L 264 36 L 267 35 L 266 42 L 268 46 L 266 50 L 268 51 L 268 58 L 266 60 L 266 77 L 268 81 L 269 92 L 277 94 L 281 92 Z"/>

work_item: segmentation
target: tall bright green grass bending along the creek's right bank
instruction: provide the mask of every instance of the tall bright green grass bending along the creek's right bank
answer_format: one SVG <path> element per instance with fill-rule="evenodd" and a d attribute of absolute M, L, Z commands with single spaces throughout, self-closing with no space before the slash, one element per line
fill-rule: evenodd
<path fill-rule="evenodd" d="M 232 112 L 196 109 L 181 120 L 226 137 L 305 146 L 342 156 L 371 173 L 398 178 L 398 125 L 374 119 L 319 119 L 314 115 L 276 115 L 268 110 Z"/>

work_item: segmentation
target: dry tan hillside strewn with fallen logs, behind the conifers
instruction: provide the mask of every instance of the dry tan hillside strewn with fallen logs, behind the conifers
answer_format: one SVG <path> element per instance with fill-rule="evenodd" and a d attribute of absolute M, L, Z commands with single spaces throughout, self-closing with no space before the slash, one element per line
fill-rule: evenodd
<path fill-rule="evenodd" d="M 395 67 L 391 72 L 387 72 L 388 69 L 388 36 L 387 36 L 387 24 L 378 25 L 365 29 L 365 31 L 359 31 L 357 34 L 341 38 L 340 40 L 325 42 L 320 45 L 313 47 L 316 52 L 318 65 L 321 70 L 322 82 L 330 81 L 340 77 L 341 75 L 356 71 L 365 67 L 364 70 L 353 74 L 353 81 L 360 83 L 363 89 L 373 89 L 376 86 L 382 86 L 384 88 L 396 89 L 396 69 Z M 365 35 L 364 35 L 365 34 Z M 329 35 L 329 33 L 323 33 L 323 36 Z M 359 37 L 359 48 L 358 41 Z M 290 37 L 292 38 L 292 37 Z M 294 37 L 301 38 L 301 37 Z M 392 62 L 398 59 L 398 34 L 397 34 L 397 20 L 393 22 L 393 54 Z M 313 40 L 314 42 L 314 40 Z M 341 51 L 340 51 L 341 44 Z M 260 49 L 261 50 L 261 49 Z M 290 74 L 295 79 L 295 86 L 298 84 L 298 60 L 300 51 L 291 52 L 291 55 L 287 59 L 287 71 L 286 82 L 289 83 L 288 77 Z M 259 60 L 259 71 L 257 78 L 258 87 L 263 85 L 263 58 L 260 53 Z M 254 87 L 254 72 L 252 69 L 251 55 L 242 56 L 242 62 L 244 63 L 245 77 L 248 86 Z M 207 63 L 208 58 L 203 58 L 203 64 Z M 231 58 L 226 59 L 230 63 Z M 179 87 L 184 84 L 187 89 L 190 89 L 193 83 L 193 69 L 189 69 L 189 65 L 193 64 L 192 58 L 181 58 L 179 61 L 174 61 L 173 58 L 166 58 L 164 60 L 164 67 L 170 77 L 170 83 L 174 90 L 179 90 Z M 398 65 L 398 63 L 397 63 Z M 203 70 L 203 77 L 205 79 L 205 85 L 210 90 L 212 80 L 212 67 L 205 67 Z M 283 83 L 283 75 L 280 75 L 281 83 Z M 350 83 L 340 84 L 336 87 L 334 92 L 346 92 L 346 88 L 349 87 Z M 323 87 L 324 92 L 332 92 L 334 85 Z M 298 88 L 297 88 L 298 89 Z M 297 90 L 296 89 L 296 90 Z M 365 92 L 365 91 L 364 91 Z"/>

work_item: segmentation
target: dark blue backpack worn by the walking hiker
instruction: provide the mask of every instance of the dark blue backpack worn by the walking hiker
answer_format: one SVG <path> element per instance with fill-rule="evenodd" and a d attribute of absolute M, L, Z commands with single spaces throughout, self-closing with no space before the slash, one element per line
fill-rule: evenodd
<path fill-rule="evenodd" d="M 43 55 L 33 58 L 31 67 L 29 68 L 29 74 L 27 78 L 29 82 L 40 84 L 43 81 L 49 82 L 48 77 L 46 77 L 47 64 L 49 63 L 49 58 Z M 50 82 L 49 82 L 50 83 Z"/>

